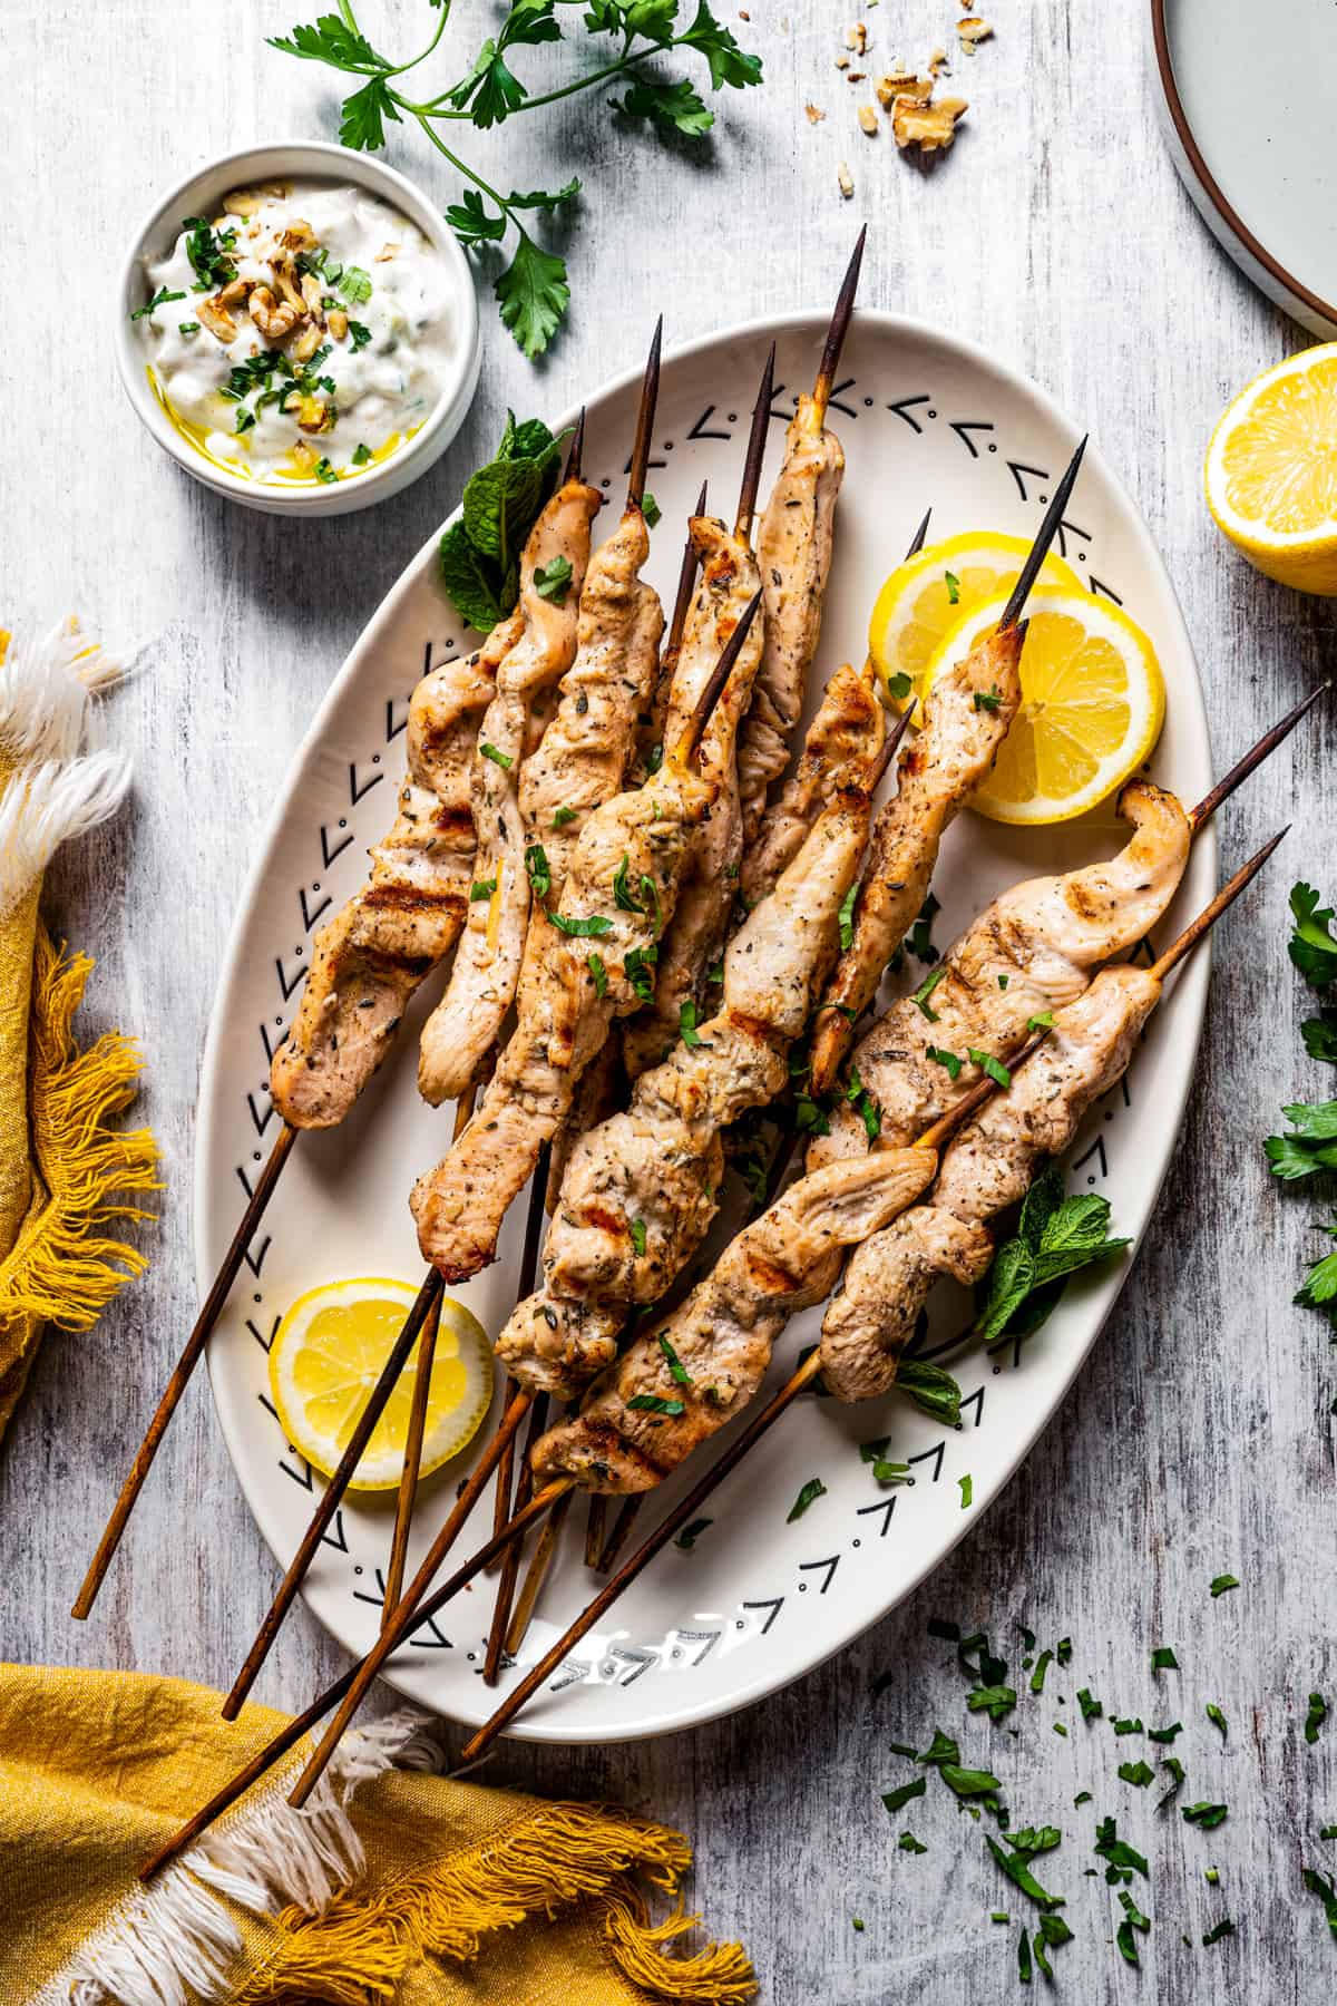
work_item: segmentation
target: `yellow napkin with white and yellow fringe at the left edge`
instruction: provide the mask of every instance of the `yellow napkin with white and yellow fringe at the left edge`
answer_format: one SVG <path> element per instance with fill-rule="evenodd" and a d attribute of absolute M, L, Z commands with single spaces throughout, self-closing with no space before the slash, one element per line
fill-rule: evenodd
<path fill-rule="evenodd" d="M 144 1256 L 110 1232 L 146 1218 L 112 1194 L 154 1188 L 146 1129 L 108 1117 L 134 1099 L 138 1053 L 118 1033 L 78 1051 L 70 1019 L 92 969 L 38 919 L 60 843 L 122 800 L 130 770 L 98 742 L 92 696 L 120 674 L 70 620 L 30 650 L 0 630 L 0 1436 L 42 1324 L 88 1330 Z"/>

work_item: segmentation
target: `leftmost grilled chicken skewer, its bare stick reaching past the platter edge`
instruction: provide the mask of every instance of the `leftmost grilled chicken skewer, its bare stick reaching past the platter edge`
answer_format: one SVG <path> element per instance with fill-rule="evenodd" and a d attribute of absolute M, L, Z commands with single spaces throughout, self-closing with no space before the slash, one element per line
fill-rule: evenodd
<path fill-rule="evenodd" d="M 583 576 L 589 522 L 599 506 L 599 493 L 581 479 L 583 433 L 581 413 L 563 483 L 529 532 L 523 554 L 527 576 L 559 556 L 571 564 L 573 578 Z M 333 1127 L 347 1115 L 385 1059 L 405 1003 L 459 937 L 473 871 L 467 798 L 473 742 L 499 666 L 525 642 L 529 614 L 521 596 L 515 612 L 493 628 L 481 648 L 429 670 L 413 692 L 409 772 L 395 824 L 373 851 L 367 887 L 315 937 L 297 1017 L 271 1063 L 271 1095 L 283 1125 L 74 1599 L 70 1613 L 80 1621 L 92 1611 L 158 1444 L 222 1314 L 299 1131 Z M 573 616 L 567 624 L 573 646 Z"/>

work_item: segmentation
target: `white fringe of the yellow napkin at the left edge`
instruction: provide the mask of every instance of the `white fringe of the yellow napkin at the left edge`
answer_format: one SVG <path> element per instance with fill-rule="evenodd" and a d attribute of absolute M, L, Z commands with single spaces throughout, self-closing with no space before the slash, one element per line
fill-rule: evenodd
<path fill-rule="evenodd" d="M 130 762 L 104 748 L 94 696 L 126 668 L 74 618 L 0 664 L 0 760 L 18 768 L 0 794 L 0 919 L 62 843 L 124 800 Z"/>

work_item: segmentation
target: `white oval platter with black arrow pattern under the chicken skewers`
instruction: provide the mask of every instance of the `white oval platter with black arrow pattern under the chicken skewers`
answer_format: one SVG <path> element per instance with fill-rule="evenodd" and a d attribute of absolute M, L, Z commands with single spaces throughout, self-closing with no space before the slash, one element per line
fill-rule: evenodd
<path fill-rule="evenodd" d="M 704 477 L 712 506 L 732 514 L 748 411 L 766 347 L 778 341 L 768 477 L 800 385 L 812 381 L 826 315 L 792 315 L 700 341 L 663 365 L 649 485 L 663 512 L 649 576 L 667 598 L 684 524 Z M 637 371 L 589 401 L 585 467 L 619 506 L 635 413 Z M 1030 383 L 984 351 L 918 323 L 860 313 L 850 331 L 832 421 L 848 455 L 822 652 L 814 686 L 844 658 L 862 658 L 866 618 L 884 574 L 932 506 L 932 536 L 974 528 L 1034 532 L 1076 427 Z M 766 491 L 766 487 L 764 487 Z M 1211 784 L 1203 694 L 1175 592 L 1133 501 L 1094 447 L 1062 530 L 1062 550 L 1096 594 L 1117 598 L 1155 640 L 1169 686 L 1169 720 L 1153 774 L 1187 802 Z M 469 648 L 437 586 L 435 540 L 409 564 L 339 672 L 305 742 L 243 897 L 212 1013 L 198 1107 L 196 1266 L 214 1274 L 277 1133 L 269 1055 L 291 1021 L 311 933 L 363 879 L 365 851 L 389 826 L 403 766 L 413 684 L 447 650 Z M 1123 841 L 1112 810 L 1046 830 L 1008 830 L 962 814 L 934 877 L 946 947 L 1004 885 L 1070 869 Z M 1185 885 L 1159 939 L 1207 903 L 1217 881 L 1215 837 L 1195 845 Z M 435 985 L 429 985 L 435 995 Z M 1115 1230 L 1141 1240 L 1191 1091 L 1207 993 L 1207 957 L 1179 977 L 1149 1027 L 1125 1087 L 1098 1107 L 1072 1151 L 1070 1188 L 1104 1192 Z M 421 999 L 423 1005 L 431 997 Z M 419 1011 L 421 1017 L 421 1011 Z M 415 1023 L 349 1121 L 303 1135 L 210 1346 L 210 1378 L 243 1490 L 275 1559 L 291 1559 L 313 1507 L 313 1472 L 287 1444 L 269 1406 L 267 1346 L 283 1310 L 319 1282 L 355 1274 L 421 1278 L 409 1220 L 413 1178 L 445 1149 L 451 1111 L 415 1091 Z M 525 1204 L 513 1208 L 499 1260 L 465 1300 L 489 1332 L 509 1314 Z M 866 1410 L 804 1398 L 712 1498 L 712 1525 L 692 1551 L 667 1547 L 517 1723 L 543 1741 L 609 1741 L 663 1733 L 760 1699 L 800 1677 L 876 1623 L 928 1575 L 1004 1486 L 1046 1424 L 1127 1280 L 1131 1264 L 1078 1278 L 1058 1314 L 1020 1352 L 954 1362 L 964 1390 L 958 1432 L 944 1432 L 904 1398 Z M 962 1304 L 940 1304 L 956 1328 Z M 798 1318 L 774 1378 L 812 1340 L 820 1312 Z M 914 1480 L 882 1490 L 858 1444 L 890 1434 L 890 1454 Z M 443 1521 L 467 1458 L 423 1486 L 411 1565 Z M 960 1478 L 972 1478 L 962 1509 Z M 696 1476 L 696 1466 L 692 1468 Z M 794 1525 L 800 1484 L 826 1494 Z M 682 1482 L 682 1480 L 680 1480 Z M 667 1484 L 672 1502 L 680 1482 Z M 645 1507 L 645 1523 L 659 1500 Z M 579 1525 L 579 1513 L 571 1527 Z M 349 1500 L 307 1577 L 315 1615 L 365 1651 L 377 1635 L 381 1569 L 393 1500 Z M 483 1500 L 471 1529 L 491 1529 Z M 469 1539 L 469 1545 L 473 1539 Z M 571 1531 L 523 1649 L 545 1651 L 593 1585 Z M 469 1547 L 461 1547 L 461 1553 Z M 491 1581 L 449 1605 L 393 1661 L 393 1685 L 457 1721 L 483 1721 L 493 1693 L 481 1679 Z M 241 1659 L 247 1639 L 237 1639 Z M 515 1673 L 505 1675 L 515 1677 Z M 505 1681 L 503 1681 L 505 1683 Z"/>

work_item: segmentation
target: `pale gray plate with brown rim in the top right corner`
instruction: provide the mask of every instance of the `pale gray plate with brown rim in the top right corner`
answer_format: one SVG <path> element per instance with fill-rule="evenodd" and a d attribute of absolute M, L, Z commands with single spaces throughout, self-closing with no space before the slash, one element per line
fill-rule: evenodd
<path fill-rule="evenodd" d="M 1269 299 L 1337 333 L 1333 0 L 1151 0 L 1175 164 L 1203 221 Z"/>

